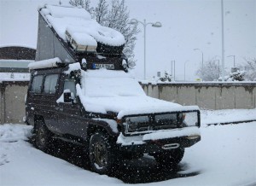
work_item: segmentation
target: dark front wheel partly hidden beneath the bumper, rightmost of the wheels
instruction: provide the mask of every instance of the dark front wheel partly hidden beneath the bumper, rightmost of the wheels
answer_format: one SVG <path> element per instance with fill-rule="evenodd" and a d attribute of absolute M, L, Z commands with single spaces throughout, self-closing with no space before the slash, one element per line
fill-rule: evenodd
<path fill-rule="evenodd" d="M 154 159 L 160 164 L 160 166 L 170 168 L 177 166 L 177 164 L 183 159 L 184 152 L 184 148 L 176 148 L 163 153 L 154 154 Z"/>

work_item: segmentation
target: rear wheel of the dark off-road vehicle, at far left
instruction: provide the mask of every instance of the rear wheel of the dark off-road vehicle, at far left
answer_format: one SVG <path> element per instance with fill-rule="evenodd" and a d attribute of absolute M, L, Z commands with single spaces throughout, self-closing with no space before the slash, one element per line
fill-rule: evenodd
<path fill-rule="evenodd" d="M 35 134 L 35 142 L 38 149 L 44 152 L 48 151 L 52 142 L 52 134 L 44 124 L 43 119 L 39 119 L 35 122 Z"/>

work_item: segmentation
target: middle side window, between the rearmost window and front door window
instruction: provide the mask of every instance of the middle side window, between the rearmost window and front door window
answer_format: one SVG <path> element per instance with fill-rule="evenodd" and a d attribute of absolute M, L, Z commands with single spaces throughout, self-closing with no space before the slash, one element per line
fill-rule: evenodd
<path fill-rule="evenodd" d="M 45 77 L 45 80 L 44 80 L 45 94 L 55 94 L 58 77 L 59 77 L 58 74 L 50 74 Z"/>

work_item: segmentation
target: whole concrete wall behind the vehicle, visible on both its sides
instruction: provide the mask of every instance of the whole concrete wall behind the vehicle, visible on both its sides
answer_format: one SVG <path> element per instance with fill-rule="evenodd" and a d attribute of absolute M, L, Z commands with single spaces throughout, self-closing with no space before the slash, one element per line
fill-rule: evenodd
<path fill-rule="evenodd" d="M 0 82 L 0 124 L 23 123 L 28 81 Z M 205 109 L 256 108 L 256 83 L 142 84 L 148 96 Z"/>

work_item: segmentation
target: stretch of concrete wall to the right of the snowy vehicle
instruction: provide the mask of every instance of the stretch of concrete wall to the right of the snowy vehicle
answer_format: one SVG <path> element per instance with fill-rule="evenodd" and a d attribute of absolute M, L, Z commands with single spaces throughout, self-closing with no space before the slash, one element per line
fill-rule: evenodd
<path fill-rule="evenodd" d="M 205 109 L 256 108 L 256 83 L 142 84 L 148 96 Z"/>

